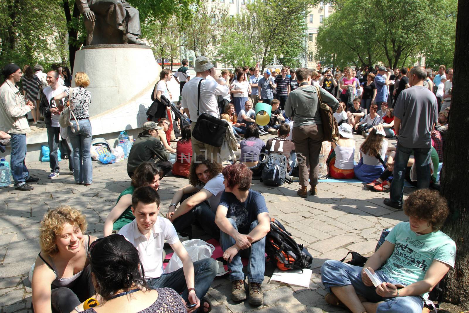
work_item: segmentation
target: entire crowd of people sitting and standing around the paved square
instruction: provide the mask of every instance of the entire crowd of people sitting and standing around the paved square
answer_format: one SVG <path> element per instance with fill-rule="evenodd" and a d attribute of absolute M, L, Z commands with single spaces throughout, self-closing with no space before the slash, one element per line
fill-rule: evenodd
<path fill-rule="evenodd" d="M 396 225 L 363 267 L 384 283 L 376 290 L 368 288 L 372 283 L 361 267 L 326 261 L 321 271 L 330 292 L 326 301 L 352 312 L 421 312 L 426 293 L 454 266 L 454 241 L 439 230 L 448 214 L 446 201 L 428 189 L 438 189 L 452 69 L 441 66 L 434 78 L 423 67 L 391 71 L 383 66 L 375 71 L 346 67 L 341 72 L 283 67 L 279 73 L 265 69 L 263 75 L 257 67 L 244 67 L 218 75 L 210 60 L 201 56 L 191 78 L 187 60 L 182 65 L 174 74 L 182 95 L 179 107 L 165 106 L 166 117 L 144 123 L 127 162 L 131 182 L 106 218 L 105 237 L 84 235 L 86 220 L 76 208 L 61 206 L 45 214 L 41 252 L 31 277 L 35 312 L 115 312 L 122 307 L 132 312 L 210 312 L 205 295 L 218 264 L 212 258 L 190 259 L 181 241 L 193 237 L 193 225 L 219 241 L 230 271 L 232 300 L 249 297 L 250 304 L 262 305 L 270 215 L 262 194 L 250 187 L 271 154 L 285 156 L 288 174 L 299 178 L 299 197 L 318 195 L 319 177 L 356 178 L 369 189 L 390 191 L 384 203 L 404 206 L 409 216 L 409 222 Z M 31 78 L 31 73 L 26 69 L 22 78 L 22 70 L 8 64 L 0 87 L 0 135 L 10 137 L 15 189 L 32 190 L 28 183 L 38 180 L 29 175 L 24 162 L 30 132 L 26 114 L 38 104 L 51 151 L 49 178 L 60 173 L 61 144 L 68 147 L 69 170 L 76 183 L 91 184 L 88 76 L 77 72 L 77 87 L 71 89 L 65 84 L 71 78 L 68 69 L 63 69 L 64 76 L 51 70 L 43 73 L 47 86 L 36 94 L 25 87 L 41 82 L 40 75 Z M 171 71 L 161 71 L 153 91 L 159 103 L 173 102 L 167 87 L 172 77 Z M 24 95 L 16 86 L 22 79 Z M 257 103 L 271 107 L 266 125 L 257 122 Z M 332 109 L 339 124 L 340 137 L 332 145 L 324 140 L 321 103 Z M 75 120 L 60 127 L 58 115 L 68 106 L 79 128 Z M 173 107 L 182 118 L 175 118 Z M 223 145 L 194 137 L 202 114 L 225 121 Z M 38 115 L 33 120 L 38 121 Z M 174 149 L 170 143 L 176 131 L 181 138 Z M 360 147 L 354 131 L 365 137 Z M 268 133 L 276 137 L 265 142 L 260 136 Z M 396 147 L 386 137 L 396 137 Z M 238 149 L 241 156 L 236 160 Z M 189 184 L 174 193 L 163 217 L 158 190 L 169 172 L 188 178 Z M 406 179 L 418 190 L 404 202 Z M 163 272 L 165 243 L 182 261 L 182 267 L 171 273 Z M 242 257 L 249 260 L 247 273 Z M 379 269 L 381 264 L 385 265 Z M 96 310 L 83 308 L 90 297 L 100 303 Z"/>

